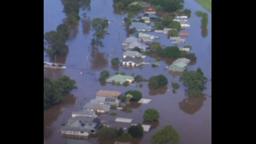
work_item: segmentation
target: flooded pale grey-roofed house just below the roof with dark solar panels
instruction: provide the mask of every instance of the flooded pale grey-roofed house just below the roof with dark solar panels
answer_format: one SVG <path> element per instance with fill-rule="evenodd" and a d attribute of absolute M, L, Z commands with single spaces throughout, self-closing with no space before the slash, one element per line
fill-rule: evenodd
<path fill-rule="evenodd" d="M 110 105 L 88 102 L 83 109 L 95 111 L 96 113 L 107 113 L 110 110 Z"/>

